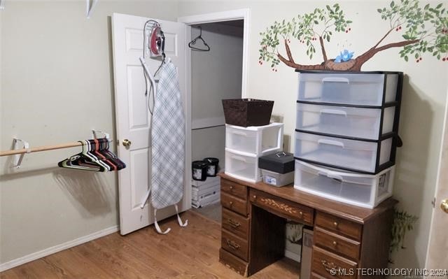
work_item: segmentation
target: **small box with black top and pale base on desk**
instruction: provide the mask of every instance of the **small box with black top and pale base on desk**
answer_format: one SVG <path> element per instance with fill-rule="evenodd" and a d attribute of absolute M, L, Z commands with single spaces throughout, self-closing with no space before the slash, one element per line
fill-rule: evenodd
<path fill-rule="evenodd" d="M 294 181 L 294 156 L 291 153 L 276 152 L 258 158 L 264 183 L 284 186 Z"/>

